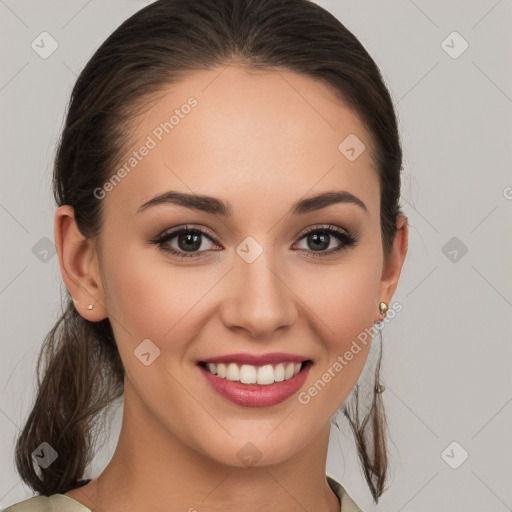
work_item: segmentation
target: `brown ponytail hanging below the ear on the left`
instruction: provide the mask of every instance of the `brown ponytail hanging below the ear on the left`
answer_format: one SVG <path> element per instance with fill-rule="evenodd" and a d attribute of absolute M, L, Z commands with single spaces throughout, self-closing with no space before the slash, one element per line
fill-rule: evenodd
<path fill-rule="evenodd" d="M 64 494 L 79 487 L 92 461 L 98 414 L 123 394 L 124 368 L 109 320 L 89 322 L 69 300 L 43 342 L 37 380 L 16 442 L 16 468 L 38 494 Z"/>

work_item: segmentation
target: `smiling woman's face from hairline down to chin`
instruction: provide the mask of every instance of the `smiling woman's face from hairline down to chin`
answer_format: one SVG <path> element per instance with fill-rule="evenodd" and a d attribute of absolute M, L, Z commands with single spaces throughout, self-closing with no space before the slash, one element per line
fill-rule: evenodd
<path fill-rule="evenodd" d="M 316 81 L 234 66 L 161 91 L 133 130 L 136 142 L 118 167 L 126 164 L 125 172 L 97 192 L 98 302 L 81 310 L 112 323 L 127 372 L 125 408 L 141 432 L 157 424 L 222 463 L 244 465 L 247 450 L 258 464 L 288 459 L 325 434 L 369 341 L 350 361 L 344 354 L 394 291 L 381 281 L 370 134 Z M 144 206 L 171 191 L 189 199 Z M 353 199 L 304 203 L 342 191 Z M 196 232 L 154 242 L 185 226 Z M 229 399 L 198 361 L 241 353 L 287 353 L 312 364 L 289 397 L 260 400 L 230 384 Z M 280 357 L 288 358 L 273 367 Z M 243 373 L 250 379 L 253 369 Z"/>

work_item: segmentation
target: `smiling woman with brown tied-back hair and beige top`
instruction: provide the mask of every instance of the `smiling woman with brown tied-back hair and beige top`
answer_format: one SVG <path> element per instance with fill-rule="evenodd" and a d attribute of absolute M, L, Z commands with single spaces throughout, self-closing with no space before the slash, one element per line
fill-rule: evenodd
<path fill-rule="evenodd" d="M 362 418 L 358 379 L 407 252 L 401 159 L 377 66 L 318 5 L 159 0 L 125 21 L 58 148 L 69 297 L 16 446 L 39 496 L 7 510 L 361 510 L 325 471 L 338 409 L 378 502 L 380 359 Z M 120 396 L 115 453 L 84 479 Z"/>

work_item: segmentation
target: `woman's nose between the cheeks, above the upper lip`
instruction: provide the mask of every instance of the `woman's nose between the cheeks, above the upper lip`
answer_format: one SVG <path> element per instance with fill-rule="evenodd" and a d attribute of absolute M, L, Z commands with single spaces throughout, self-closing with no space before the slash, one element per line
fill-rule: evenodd
<path fill-rule="evenodd" d="M 242 258 L 224 283 L 221 317 L 229 329 L 252 338 L 271 339 L 274 331 L 292 326 L 298 317 L 297 295 L 290 273 L 263 253 L 252 263 Z"/>

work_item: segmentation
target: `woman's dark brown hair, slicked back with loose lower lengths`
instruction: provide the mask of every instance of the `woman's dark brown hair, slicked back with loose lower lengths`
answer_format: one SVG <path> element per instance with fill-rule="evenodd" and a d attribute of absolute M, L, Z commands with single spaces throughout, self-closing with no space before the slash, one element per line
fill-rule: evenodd
<path fill-rule="evenodd" d="M 96 237 L 102 201 L 93 191 L 121 160 L 139 109 L 150 95 L 187 73 L 230 62 L 312 77 L 359 115 L 375 142 L 387 257 L 401 213 L 402 151 L 392 100 L 357 38 L 309 0 L 159 0 L 124 21 L 74 85 L 55 159 L 57 205 L 71 205 L 81 233 Z M 98 415 L 123 394 L 124 368 L 108 318 L 85 320 L 69 293 L 63 310 L 41 348 L 37 396 L 16 443 L 21 478 L 43 495 L 78 487 L 93 457 Z M 380 359 L 376 380 L 379 368 Z M 355 391 L 357 403 L 358 386 Z M 347 408 L 344 412 L 378 502 L 388 465 L 381 397 L 374 395 L 362 422 L 358 414 L 354 419 Z M 44 441 L 58 458 L 41 471 L 31 454 Z"/>

